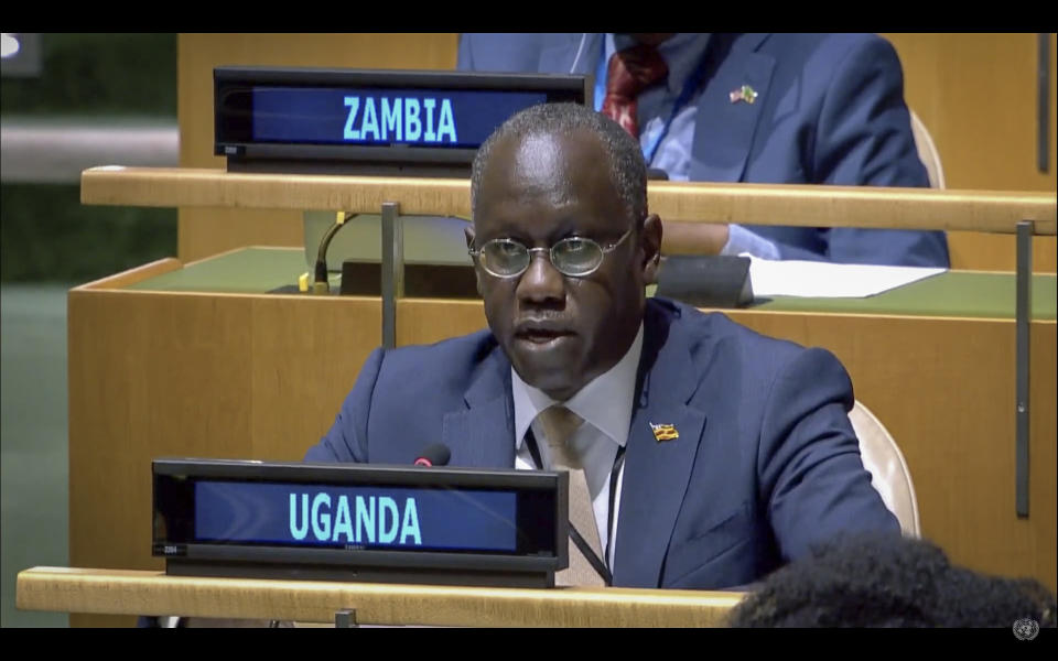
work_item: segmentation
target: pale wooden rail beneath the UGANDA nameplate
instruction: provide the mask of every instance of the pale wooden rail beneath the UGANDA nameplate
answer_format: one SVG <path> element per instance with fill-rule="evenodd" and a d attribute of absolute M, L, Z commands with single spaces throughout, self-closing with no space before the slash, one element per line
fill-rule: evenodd
<path fill-rule="evenodd" d="M 18 576 L 30 610 L 442 627 L 721 627 L 742 593 L 560 587 L 514 589 L 242 578 L 34 567 Z"/>

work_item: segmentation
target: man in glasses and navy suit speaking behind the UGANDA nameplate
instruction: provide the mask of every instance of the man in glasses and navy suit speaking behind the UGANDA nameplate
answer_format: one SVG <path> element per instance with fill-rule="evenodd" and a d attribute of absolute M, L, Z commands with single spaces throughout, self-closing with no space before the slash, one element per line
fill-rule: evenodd
<path fill-rule="evenodd" d="M 620 586 L 745 585 L 841 533 L 899 534 L 831 354 L 646 297 L 661 220 L 619 126 L 572 105 L 515 116 L 478 151 L 472 206 L 489 329 L 376 350 L 306 460 L 407 465 L 440 441 L 454 466 L 547 467 L 544 412 L 572 411 Z"/>

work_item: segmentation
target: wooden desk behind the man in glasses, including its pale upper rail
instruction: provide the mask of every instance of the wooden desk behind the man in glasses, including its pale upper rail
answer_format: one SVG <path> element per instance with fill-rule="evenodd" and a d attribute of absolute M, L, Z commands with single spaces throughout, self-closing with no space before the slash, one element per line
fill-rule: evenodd
<path fill-rule="evenodd" d="M 1054 196 L 1037 193 L 651 182 L 648 194 L 651 209 L 670 219 L 994 232 L 1032 219 L 1036 234 L 1056 231 Z M 456 180 L 120 167 L 91 169 L 82 180 L 86 204 L 376 213 L 390 199 L 402 214 L 469 212 L 468 182 Z M 267 256 L 274 270 L 236 269 L 251 274 L 240 284 L 185 278 L 212 260 L 186 268 L 162 260 L 71 292 L 72 564 L 161 567 L 148 543 L 151 458 L 296 460 L 332 424 L 380 343 L 380 301 L 264 293 L 306 270 L 301 250 L 288 253 Z M 907 456 L 924 533 L 956 562 L 1032 575 L 1055 589 L 1055 279 L 1035 286 L 1049 314 L 1030 324 L 1032 491 L 1023 520 L 1014 509 L 1013 277 L 939 278 L 976 280 L 911 311 L 886 307 L 894 297 L 883 295 L 822 312 L 776 301 L 731 316 L 844 361 L 857 398 Z M 1000 303 L 974 303 L 997 283 L 1008 290 Z M 397 318 L 398 345 L 485 325 L 481 302 L 468 300 L 404 299 Z"/>

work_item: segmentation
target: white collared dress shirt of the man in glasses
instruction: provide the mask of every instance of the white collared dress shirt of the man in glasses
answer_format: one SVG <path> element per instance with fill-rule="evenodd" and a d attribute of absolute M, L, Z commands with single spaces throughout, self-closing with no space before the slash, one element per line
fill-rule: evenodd
<path fill-rule="evenodd" d="M 636 390 L 636 372 L 639 356 L 643 354 L 643 324 L 628 351 L 608 371 L 600 375 L 584 386 L 565 402 L 557 402 L 543 391 L 521 380 L 515 368 L 510 368 L 511 394 L 515 400 L 515 468 L 527 470 L 536 468 L 532 455 L 526 444 L 526 432 L 532 425 L 538 440 L 544 438 L 543 430 L 537 422 L 537 414 L 552 404 L 561 403 L 580 415 L 585 424 L 576 430 L 569 441 L 572 452 L 577 453 L 584 466 L 587 490 L 592 497 L 595 512 L 595 527 L 603 549 L 613 538 L 606 563 L 613 567 L 614 551 L 617 548 L 617 514 L 620 509 L 620 484 L 625 470 L 622 465 L 617 475 L 616 498 L 614 499 L 613 528 L 607 530 L 609 518 L 609 481 L 617 457 L 618 447 L 628 443 L 628 427 L 631 424 L 631 405 Z M 550 467 L 548 444 L 537 444 L 544 466 Z"/>

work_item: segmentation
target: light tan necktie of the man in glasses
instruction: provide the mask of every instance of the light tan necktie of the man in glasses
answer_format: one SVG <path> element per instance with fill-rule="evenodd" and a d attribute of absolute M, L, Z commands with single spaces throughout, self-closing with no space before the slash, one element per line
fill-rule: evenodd
<path fill-rule="evenodd" d="M 551 454 L 551 469 L 566 470 L 570 474 L 570 525 L 576 528 L 584 541 L 595 552 L 595 555 L 602 557 L 598 529 L 595 527 L 595 510 L 592 508 L 592 496 L 587 490 L 584 467 L 581 464 L 581 458 L 570 452 L 568 445 L 573 433 L 584 424 L 584 420 L 565 407 L 558 405 L 541 411 L 538 419 L 544 436 L 547 436 L 548 449 Z M 555 584 L 605 585 L 603 577 L 592 567 L 587 559 L 576 548 L 576 544 L 570 540 L 569 545 L 570 566 L 555 574 Z"/>

